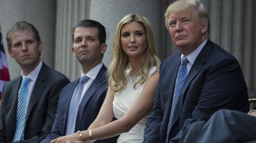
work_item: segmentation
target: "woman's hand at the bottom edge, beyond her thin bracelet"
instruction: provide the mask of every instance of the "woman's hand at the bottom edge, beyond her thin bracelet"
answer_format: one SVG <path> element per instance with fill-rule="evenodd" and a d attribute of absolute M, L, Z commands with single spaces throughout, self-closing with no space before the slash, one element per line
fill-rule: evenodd
<path fill-rule="evenodd" d="M 81 138 L 79 138 L 79 134 L 78 133 L 73 133 L 70 135 L 66 135 L 66 136 L 60 136 L 58 138 L 55 138 L 53 140 L 51 140 L 51 143 L 67 143 L 67 142 L 84 142 L 83 140 L 81 140 Z"/>

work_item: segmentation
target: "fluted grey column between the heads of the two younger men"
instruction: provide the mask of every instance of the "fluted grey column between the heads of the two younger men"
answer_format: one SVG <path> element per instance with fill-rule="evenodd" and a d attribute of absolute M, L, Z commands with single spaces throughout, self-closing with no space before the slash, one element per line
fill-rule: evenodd
<path fill-rule="evenodd" d="M 55 69 L 74 80 L 81 74 L 81 66 L 73 56 L 72 30 L 78 21 L 88 18 L 89 1 L 57 1 Z"/>

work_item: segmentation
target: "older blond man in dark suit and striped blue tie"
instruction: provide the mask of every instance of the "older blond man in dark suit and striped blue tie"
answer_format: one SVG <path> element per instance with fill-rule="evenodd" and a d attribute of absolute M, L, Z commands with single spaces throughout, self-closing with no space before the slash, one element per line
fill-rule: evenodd
<path fill-rule="evenodd" d="M 167 8 L 165 22 L 180 51 L 170 55 L 160 67 L 144 142 L 179 142 L 192 123 L 207 121 L 219 109 L 249 110 L 247 87 L 238 61 L 207 39 L 210 27 L 204 6 L 198 0 L 176 1 Z M 186 70 L 179 72 L 185 74 L 177 76 L 183 57 L 188 64 L 184 66 Z M 185 79 L 181 82 L 178 77 Z M 180 90 L 174 93 L 176 89 Z"/>

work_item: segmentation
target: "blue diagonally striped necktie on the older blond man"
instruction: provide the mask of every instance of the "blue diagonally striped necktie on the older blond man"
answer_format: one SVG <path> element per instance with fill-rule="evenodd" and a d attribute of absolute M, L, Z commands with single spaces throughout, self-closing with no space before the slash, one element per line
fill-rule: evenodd
<path fill-rule="evenodd" d="M 180 64 L 178 75 L 177 75 L 177 78 L 176 78 L 173 105 L 172 105 L 172 110 L 170 111 L 170 118 L 169 118 L 169 122 L 168 122 L 168 128 L 167 128 L 165 143 L 169 142 L 170 125 L 172 125 L 174 111 L 175 111 L 175 107 L 176 107 L 176 104 L 177 104 L 177 101 L 178 101 L 178 98 L 179 98 L 179 95 L 180 95 L 180 91 L 181 91 L 181 89 L 183 87 L 183 84 L 184 84 L 184 81 L 187 77 L 187 64 L 188 63 L 189 63 L 189 61 L 187 60 L 186 56 L 183 56 L 182 59 L 181 59 L 181 64 Z"/>

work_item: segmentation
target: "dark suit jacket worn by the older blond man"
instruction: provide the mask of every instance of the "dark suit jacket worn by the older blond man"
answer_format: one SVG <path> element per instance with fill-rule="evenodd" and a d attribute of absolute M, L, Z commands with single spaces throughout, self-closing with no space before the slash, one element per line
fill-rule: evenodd
<path fill-rule="evenodd" d="M 148 117 L 144 142 L 165 140 L 180 59 L 181 53 L 177 52 L 161 65 L 153 113 Z M 247 112 L 247 87 L 238 61 L 208 40 L 183 84 L 169 137 L 178 141 L 190 124 L 206 121 L 222 108 Z"/>

